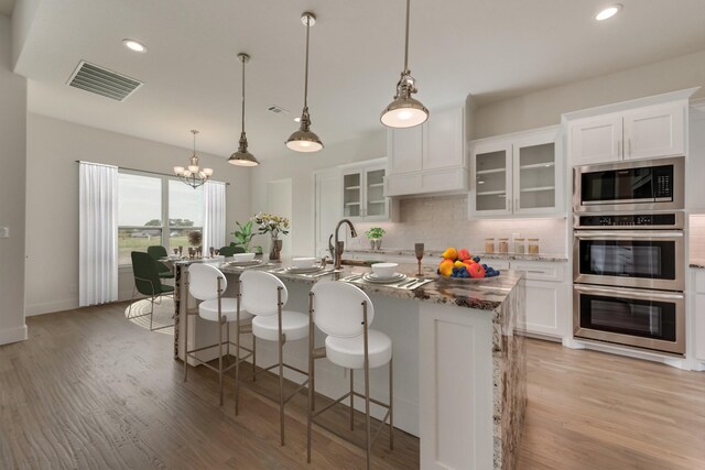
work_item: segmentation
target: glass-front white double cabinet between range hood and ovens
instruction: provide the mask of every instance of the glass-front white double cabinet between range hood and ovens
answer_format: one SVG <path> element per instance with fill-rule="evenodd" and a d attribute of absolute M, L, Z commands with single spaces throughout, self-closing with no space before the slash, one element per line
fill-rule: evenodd
<path fill-rule="evenodd" d="M 561 212 L 560 128 L 475 141 L 470 152 L 469 217 Z"/>

